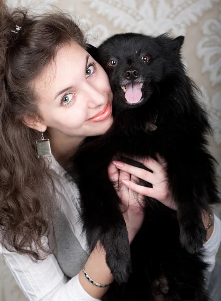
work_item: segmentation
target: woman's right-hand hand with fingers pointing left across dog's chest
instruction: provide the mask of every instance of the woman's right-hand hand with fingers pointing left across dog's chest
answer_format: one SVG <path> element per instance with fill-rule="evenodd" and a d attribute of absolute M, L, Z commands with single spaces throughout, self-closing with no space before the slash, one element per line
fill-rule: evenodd
<path fill-rule="evenodd" d="M 113 161 L 113 164 L 117 167 L 117 169 L 133 175 L 133 179 L 140 178 L 146 182 L 149 182 L 152 184 L 152 188 L 144 187 L 141 185 L 136 184 L 137 181 L 133 181 L 132 179 L 124 179 L 122 180 L 122 183 L 128 187 L 129 190 L 132 190 L 136 192 L 139 195 L 148 196 L 151 198 L 154 198 L 164 204 L 165 206 L 169 207 L 170 209 L 176 210 L 176 205 L 172 200 L 167 178 L 166 178 L 166 163 L 165 161 L 157 156 L 157 161 L 155 161 L 152 158 L 140 160 L 140 163 L 142 163 L 145 167 L 150 169 L 153 173 L 148 172 L 142 168 L 134 167 L 122 162 Z M 131 181 L 132 180 L 132 181 Z"/>

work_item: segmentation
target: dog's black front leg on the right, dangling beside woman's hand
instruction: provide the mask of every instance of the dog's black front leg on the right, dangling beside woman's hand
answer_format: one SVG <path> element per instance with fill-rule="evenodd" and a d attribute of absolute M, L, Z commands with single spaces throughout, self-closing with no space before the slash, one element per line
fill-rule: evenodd
<path fill-rule="evenodd" d="M 169 186 L 177 204 L 180 242 L 189 253 L 199 251 L 206 241 L 202 222 L 209 204 L 218 202 L 212 157 L 199 150 L 195 156 L 186 154 L 179 162 L 168 163 Z M 169 160 L 169 159 L 168 159 Z"/>

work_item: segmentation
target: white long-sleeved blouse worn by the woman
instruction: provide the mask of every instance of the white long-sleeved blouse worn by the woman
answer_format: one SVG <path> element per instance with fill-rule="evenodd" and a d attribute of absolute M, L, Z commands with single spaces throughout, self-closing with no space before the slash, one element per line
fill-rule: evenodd
<path fill-rule="evenodd" d="M 51 167 L 60 175 L 56 182 L 56 189 L 62 195 L 61 206 L 78 239 L 82 249 L 89 254 L 86 237 L 81 235 L 79 224 L 80 204 L 78 190 L 73 183 L 64 177 L 64 169 L 52 157 Z M 75 198 L 73 199 L 73 196 Z M 42 238 L 45 248 L 49 248 L 48 238 Z M 221 241 L 221 221 L 215 216 L 214 230 L 209 240 L 203 245 L 204 260 L 209 263 L 209 271 L 215 265 L 215 255 Z M 27 255 L 9 252 L 0 244 L 0 253 L 3 254 L 7 265 L 16 278 L 19 286 L 32 301 L 98 301 L 91 297 L 79 282 L 79 274 L 70 280 L 64 275 L 56 257 L 52 254 L 45 260 L 33 262 Z"/>

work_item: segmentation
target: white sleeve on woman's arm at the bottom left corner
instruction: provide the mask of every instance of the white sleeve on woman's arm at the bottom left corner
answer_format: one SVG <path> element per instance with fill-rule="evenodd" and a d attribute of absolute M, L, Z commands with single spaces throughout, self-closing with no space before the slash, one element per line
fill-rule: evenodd
<path fill-rule="evenodd" d="M 42 238 L 42 243 L 49 248 L 46 236 Z M 27 255 L 1 249 L 1 245 L 0 253 L 3 253 L 20 288 L 31 301 L 97 301 L 82 287 L 79 275 L 68 280 L 54 255 L 33 262 Z"/>

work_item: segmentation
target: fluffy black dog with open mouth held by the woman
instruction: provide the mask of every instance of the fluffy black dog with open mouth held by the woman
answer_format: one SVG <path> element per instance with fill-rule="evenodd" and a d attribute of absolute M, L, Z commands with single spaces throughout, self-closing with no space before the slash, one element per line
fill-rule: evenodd
<path fill-rule="evenodd" d="M 183 40 L 128 33 L 88 48 L 109 76 L 114 122 L 81 143 L 69 174 L 79 187 L 91 250 L 100 240 L 116 280 L 104 300 L 209 300 L 200 248 L 202 214 L 219 202 L 216 162 L 207 149 L 207 113 L 181 62 Z M 167 162 L 177 212 L 146 197 L 144 223 L 130 247 L 107 167 L 114 156 L 128 162 L 156 154 Z"/>

